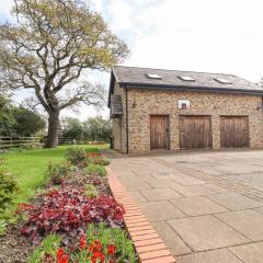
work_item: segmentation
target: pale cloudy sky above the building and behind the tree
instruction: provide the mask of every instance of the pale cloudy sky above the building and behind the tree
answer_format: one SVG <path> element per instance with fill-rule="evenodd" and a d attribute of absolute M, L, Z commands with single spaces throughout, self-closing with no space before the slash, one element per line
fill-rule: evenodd
<path fill-rule="evenodd" d="M 126 66 L 233 73 L 253 82 L 263 77 L 262 0 L 90 0 L 132 50 Z M 12 0 L 0 0 L 0 20 Z M 108 73 L 88 76 L 108 89 Z M 23 100 L 26 94 L 16 95 Z M 108 115 L 107 110 L 101 112 Z M 64 115 L 84 119 L 82 106 Z"/>

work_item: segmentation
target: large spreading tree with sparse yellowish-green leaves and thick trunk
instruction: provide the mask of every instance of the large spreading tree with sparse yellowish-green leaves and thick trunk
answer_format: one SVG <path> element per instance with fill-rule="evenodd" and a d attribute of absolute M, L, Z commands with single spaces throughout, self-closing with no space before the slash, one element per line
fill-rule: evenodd
<path fill-rule="evenodd" d="M 56 147 L 60 111 L 80 102 L 98 105 L 103 96 L 102 87 L 78 79 L 129 52 L 81 0 L 14 0 L 12 14 L 18 23 L 0 24 L 0 87 L 34 90 L 48 114 L 46 147 Z"/>

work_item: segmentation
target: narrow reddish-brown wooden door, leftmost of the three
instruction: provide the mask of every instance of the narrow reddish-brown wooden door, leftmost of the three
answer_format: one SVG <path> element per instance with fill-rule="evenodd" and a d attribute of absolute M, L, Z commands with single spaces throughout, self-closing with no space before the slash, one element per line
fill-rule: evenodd
<path fill-rule="evenodd" d="M 150 148 L 169 149 L 169 116 L 150 116 Z"/>

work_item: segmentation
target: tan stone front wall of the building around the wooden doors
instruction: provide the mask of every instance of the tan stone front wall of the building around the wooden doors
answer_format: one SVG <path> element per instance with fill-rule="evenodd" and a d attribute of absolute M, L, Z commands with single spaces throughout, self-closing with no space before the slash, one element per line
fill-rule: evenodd
<path fill-rule="evenodd" d="M 179 110 L 178 100 L 181 99 L 191 101 L 190 110 Z M 179 115 L 210 115 L 213 149 L 220 149 L 220 115 L 249 116 L 250 147 L 263 148 L 263 113 L 258 111 L 261 100 L 261 96 L 244 94 L 129 89 L 129 152 L 150 151 L 151 114 L 169 115 L 171 150 L 180 148 Z"/>

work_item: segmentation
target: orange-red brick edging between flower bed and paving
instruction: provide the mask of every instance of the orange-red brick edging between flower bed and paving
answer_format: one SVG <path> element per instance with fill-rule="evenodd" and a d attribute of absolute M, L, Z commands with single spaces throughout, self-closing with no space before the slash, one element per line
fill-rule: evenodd
<path fill-rule="evenodd" d="M 115 172 L 106 167 L 108 184 L 115 199 L 123 204 L 124 222 L 141 263 L 175 263 L 175 259 L 119 182 Z"/>

